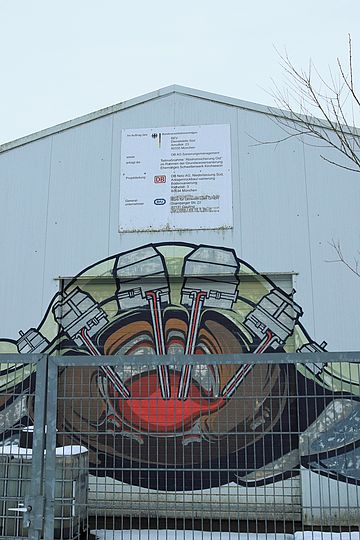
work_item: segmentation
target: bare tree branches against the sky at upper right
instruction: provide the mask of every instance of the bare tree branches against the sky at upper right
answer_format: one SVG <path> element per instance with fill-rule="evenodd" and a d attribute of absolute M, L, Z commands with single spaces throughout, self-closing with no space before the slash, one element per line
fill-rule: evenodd
<path fill-rule="evenodd" d="M 309 139 L 317 139 L 320 146 L 332 148 L 346 158 L 343 162 L 336 157 L 321 155 L 322 159 L 360 173 L 360 130 L 354 127 L 355 119 L 360 119 L 360 91 L 356 90 L 354 83 L 351 36 L 348 37 L 348 66 L 345 69 L 337 58 L 336 70 L 330 70 L 329 80 L 311 60 L 307 69 L 299 69 L 286 51 L 284 54 L 278 50 L 276 52 L 285 75 L 285 85 L 281 89 L 273 83 L 271 95 L 276 106 L 288 114 L 280 116 L 278 111 L 272 109 L 270 112 L 286 135 L 275 141 L 256 142 L 277 145 L 292 137 L 299 137 L 304 144 L 312 145 Z"/>

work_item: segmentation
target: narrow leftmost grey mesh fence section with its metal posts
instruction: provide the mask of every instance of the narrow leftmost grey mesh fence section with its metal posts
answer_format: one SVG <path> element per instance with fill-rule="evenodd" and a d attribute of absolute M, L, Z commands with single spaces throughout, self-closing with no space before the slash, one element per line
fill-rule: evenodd
<path fill-rule="evenodd" d="M 0 357 L 0 537 L 40 538 L 46 358 Z M 34 510 L 31 513 L 31 510 Z"/>

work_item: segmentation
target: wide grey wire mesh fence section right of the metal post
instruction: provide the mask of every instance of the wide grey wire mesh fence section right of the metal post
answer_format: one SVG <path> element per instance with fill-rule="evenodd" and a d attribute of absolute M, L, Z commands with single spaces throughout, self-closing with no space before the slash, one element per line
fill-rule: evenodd
<path fill-rule="evenodd" d="M 74 514 L 106 538 L 357 529 L 359 364 L 294 357 L 58 357 L 56 445 L 88 459 Z"/>

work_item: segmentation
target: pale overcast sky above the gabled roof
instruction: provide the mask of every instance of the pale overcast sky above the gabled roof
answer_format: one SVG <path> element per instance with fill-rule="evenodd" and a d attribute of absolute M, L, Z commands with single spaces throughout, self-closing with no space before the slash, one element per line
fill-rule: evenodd
<path fill-rule="evenodd" d="M 271 105 L 275 47 L 326 72 L 348 33 L 359 66 L 359 0 L 0 0 L 0 143 L 170 84 Z"/>

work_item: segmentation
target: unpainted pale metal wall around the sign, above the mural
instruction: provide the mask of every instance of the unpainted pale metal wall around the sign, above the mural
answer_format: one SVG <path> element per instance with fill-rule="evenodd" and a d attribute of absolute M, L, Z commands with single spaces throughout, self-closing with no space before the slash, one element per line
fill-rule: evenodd
<path fill-rule="evenodd" d="M 260 106 L 176 88 L 150 97 L 0 153 L 1 336 L 40 322 L 58 276 L 150 241 L 187 240 L 234 247 L 261 272 L 297 272 L 310 334 L 329 350 L 359 348 L 360 280 L 327 262 L 333 238 L 350 259 L 360 246 L 358 175 L 295 138 L 256 145 L 282 136 Z M 121 130 L 216 123 L 231 126 L 233 230 L 119 234 Z"/>

